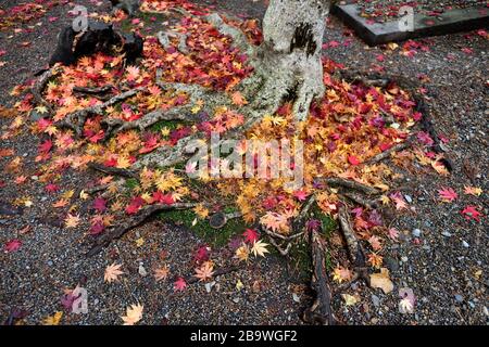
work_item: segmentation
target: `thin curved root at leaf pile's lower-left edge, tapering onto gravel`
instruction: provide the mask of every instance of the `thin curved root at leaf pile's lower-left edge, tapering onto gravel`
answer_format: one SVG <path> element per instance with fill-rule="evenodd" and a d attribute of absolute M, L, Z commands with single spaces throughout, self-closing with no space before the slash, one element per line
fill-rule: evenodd
<path fill-rule="evenodd" d="M 155 204 L 155 205 L 150 205 L 150 206 L 143 207 L 131 220 L 129 220 L 125 223 L 122 223 L 121 227 L 114 228 L 111 231 L 109 231 L 109 232 L 102 234 L 100 237 L 98 237 L 95 241 L 93 246 L 87 253 L 87 256 L 91 257 L 91 256 L 98 254 L 104 247 L 109 246 L 112 241 L 121 239 L 128 231 L 142 224 L 148 218 L 150 218 L 155 213 L 160 213 L 160 211 L 164 211 L 164 210 L 172 210 L 172 209 L 189 209 L 189 208 L 193 208 L 196 206 L 197 206 L 197 204 L 193 204 L 193 203 L 175 203 L 172 205 Z"/>

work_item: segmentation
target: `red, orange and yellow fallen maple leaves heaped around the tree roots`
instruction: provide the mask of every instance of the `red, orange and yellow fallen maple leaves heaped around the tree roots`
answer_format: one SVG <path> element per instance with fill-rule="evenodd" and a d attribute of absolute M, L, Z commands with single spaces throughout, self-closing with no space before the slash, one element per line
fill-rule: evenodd
<path fill-rule="evenodd" d="M 338 291 L 356 280 L 385 293 L 392 291 L 383 249 L 399 232 L 389 227 L 385 216 L 410 208 L 410 202 L 397 190 L 403 177 L 396 167 L 410 170 L 416 163 L 442 176 L 449 175 L 450 168 L 423 127 L 426 115 L 415 100 L 418 91 L 403 89 L 392 80 L 348 78 L 351 74 L 341 64 L 324 57 L 326 93 L 313 103 L 305 123 L 294 123 L 291 105 L 285 102 L 240 139 L 302 140 L 304 184 L 299 190 L 286 189 L 288 179 L 273 178 L 271 168 L 265 179 L 217 179 L 206 174 L 190 179 L 195 163 L 145 165 L 147 155 L 164 155 L 181 139 L 195 134 L 209 138 L 211 132 L 225 136 L 246 123 L 239 111 L 249 101 L 236 87 L 253 74 L 248 56 L 230 37 L 205 21 L 204 9 L 186 1 L 145 1 L 141 5 L 143 13 L 175 9 L 191 15 L 181 15 L 170 28 L 175 35 L 167 46 L 158 36 L 143 36 L 142 56 L 136 62 L 128 62 L 124 54 L 98 52 L 70 66 L 57 64 L 37 80 L 12 90 L 18 102 L 12 108 L 1 108 L 1 116 L 12 120 L 0 137 L 13 139 L 30 131 L 39 139 L 35 183 L 58 195 L 46 208 L 60 211 L 64 228 L 82 234 L 89 255 L 160 211 L 186 210 L 191 226 L 212 224 L 221 218 L 215 232 L 231 219 L 240 219 L 242 229 L 234 230 L 227 240 L 233 249 L 230 267 L 220 267 L 210 248 L 200 247 L 195 255 L 195 273 L 179 273 L 168 266 L 154 270 L 156 282 L 173 281 L 177 292 L 260 261 L 273 249 L 289 256 L 293 245 L 301 243 L 311 245 L 312 287 L 318 294 L 304 313 L 305 321 L 335 321 L 327 303 L 319 298 L 321 293 L 331 295 L 329 279 Z M 98 20 L 120 22 L 127 17 L 118 11 Z M 9 21 L 1 23 L 3 27 Z M 131 23 L 141 34 L 143 23 Z M 254 21 L 228 20 L 227 24 L 242 29 L 250 44 L 261 42 Z M 186 39 L 184 48 L 179 37 Z M 220 91 L 231 102 L 206 105 L 204 97 L 192 94 L 195 90 Z M 168 114 L 173 116 L 164 116 Z M 247 147 L 244 141 L 238 147 L 240 154 L 252 151 L 256 155 L 259 151 Z M 0 157 L 7 160 L 3 170 L 15 184 L 22 187 L 32 180 L 23 175 L 23 157 L 9 149 L 2 149 Z M 393 167 L 386 164 L 389 159 Z M 222 157 L 212 162 L 211 168 L 223 169 L 227 164 Z M 84 175 L 87 170 L 100 174 L 87 187 L 60 184 L 67 172 Z M 482 192 L 466 187 L 464 193 L 478 196 Z M 438 194 L 444 203 L 457 198 L 451 188 L 443 187 Z M 26 208 L 32 204 L 27 193 L 14 202 Z M 477 222 L 482 217 L 477 206 L 466 206 L 461 213 Z M 343 237 L 331 236 L 331 228 L 338 228 Z M 4 250 L 22 252 L 22 236 L 10 240 Z M 329 273 L 324 269 L 325 254 L 333 262 Z M 118 281 L 124 277 L 123 265 L 109 265 L 101 277 L 108 283 Z M 414 298 L 412 293 L 404 294 L 399 307 L 409 312 Z M 356 301 L 348 294 L 343 298 L 347 305 Z M 72 292 L 66 293 L 66 305 L 74 299 Z M 121 319 L 124 324 L 135 324 L 142 314 L 143 305 L 135 303 Z M 57 312 L 45 323 L 58 324 L 61 316 Z"/>

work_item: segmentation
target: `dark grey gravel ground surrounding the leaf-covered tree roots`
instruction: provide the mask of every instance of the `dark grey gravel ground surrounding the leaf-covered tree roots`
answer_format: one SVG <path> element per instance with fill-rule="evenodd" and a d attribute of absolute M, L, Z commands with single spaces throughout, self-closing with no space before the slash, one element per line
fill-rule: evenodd
<path fill-rule="evenodd" d="M 196 1 L 213 4 L 222 12 L 259 17 L 264 13 L 261 1 L 216 0 Z M 2 9 L 15 1 L 2 2 Z M 108 1 L 96 7 L 85 3 L 90 11 L 108 11 Z M 32 33 L 0 31 L 0 104 L 11 105 L 14 99 L 9 91 L 21 80 L 32 78 L 47 62 L 62 24 L 70 22 L 65 13 L 71 8 L 51 9 Z M 49 17 L 58 17 L 49 21 Z M 35 24 L 38 21 L 34 21 Z M 10 36 L 13 36 L 10 38 Z M 32 42 L 23 47 L 20 42 Z M 52 42 L 46 44 L 45 42 Z M 396 215 L 392 227 L 401 232 L 400 242 L 386 249 L 385 258 L 391 271 L 394 291 L 385 295 L 362 283 L 344 293 L 359 295 L 360 303 L 346 306 L 338 296 L 334 308 L 338 318 L 347 324 L 487 324 L 488 232 L 485 217 L 481 222 L 467 221 L 461 215 L 466 205 L 476 205 L 484 216 L 489 214 L 487 201 L 487 117 L 489 115 L 487 38 L 472 33 L 436 37 L 421 44 L 402 48 L 367 48 L 351 31 L 331 18 L 325 37 L 324 54 L 347 67 L 384 69 L 412 79 L 423 79 L 428 103 L 432 110 L 436 128 L 449 142 L 447 154 L 453 163 L 453 172 L 444 178 L 422 168 L 404 174 L 402 185 L 412 189 L 403 193 L 412 201 L 411 210 Z M 427 79 L 425 76 L 429 77 Z M 0 118 L 0 126 L 9 120 Z M 34 157 L 38 139 L 27 131 L 12 140 L 2 141 L 0 149 L 15 150 L 24 156 L 24 175 L 36 174 Z M 9 158 L 0 158 L 3 167 Z M 93 258 L 83 255 L 83 230 L 61 227 L 62 216 L 55 215 L 51 204 L 55 196 L 46 193 L 35 182 L 16 185 L 13 176 L 0 174 L 0 244 L 20 239 L 22 246 L 14 253 L 0 254 L 0 320 L 12 310 L 26 311 L 25 322 L 39 323 L 42 318 L 63 310 L 61 297 L 64 290 L 77 284 L 88 291 L 89 313 L 65 312 L 65 324 L 120 324 L 125 307 L 140 301 L 145 305 L 145 324 L 300 324 L 299 312 L 309 304 L 300 285 L 287 280 L 285 262 L 278 257 L 267 257 L 249 268 L 223 275 L 216 280 L 211 293 L 204 285 L 193 284 L 183 294 L 174 293 L 172 281 L 156 283 L 153 267 L 168 264 L 172 275 L 192 273 L 191 255 L 202 244 L 190 232 L 159 221 L 147 223 L 113 247 Z M 74 189 L 88 183 L 90 176 L 66 176 L 63 189 Z M 437 189 L 451 187 L 459 191 L 464 185 L 477 185 L 485 191 L 480 197 L 460 194 L 452 204 L 436 200 Z M 9 204 L 29 196 L 33 206 L 22 211 Z M 7 211 L 14 215 L 5 215 Z M 26 226 L 30 229 L 21 233 Z M 142 246 L 136 240 L 142 237 Z M 162 252 L 168 255 L 163 259 Z M 224 264 L 226 248 L 213 249 L 212 258 Z M 112 262 L 123 264 L 125 272 L 115 284 L 103 283 L 104 268 Z M 147 270 L 141 275 L 139 266 Z M 238 292 L 240 280 L 244 287 Z M 401 314 L 398 310 L 398 291 L 410 287 L 416 297 L 415 313 Z M 296 303 L 292 293 L 298 293 Z"/>

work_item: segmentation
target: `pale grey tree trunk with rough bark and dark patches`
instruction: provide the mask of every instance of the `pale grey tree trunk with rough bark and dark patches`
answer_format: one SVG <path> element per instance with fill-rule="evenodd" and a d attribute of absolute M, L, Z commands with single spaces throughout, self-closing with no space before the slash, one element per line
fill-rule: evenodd
<path fill-rule="evenodd" d="M 311 101 L 323 97 L 321 51 L 329 3 L 329 0 L 269 1 L 255 76 L 243 82 L 249 97 L 264 110 L 273 112 L 288 101 L 293 104 L 296 120 L 301 121 L 308 116 Z"/>

